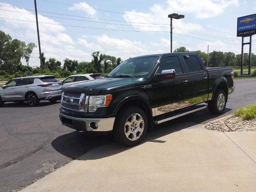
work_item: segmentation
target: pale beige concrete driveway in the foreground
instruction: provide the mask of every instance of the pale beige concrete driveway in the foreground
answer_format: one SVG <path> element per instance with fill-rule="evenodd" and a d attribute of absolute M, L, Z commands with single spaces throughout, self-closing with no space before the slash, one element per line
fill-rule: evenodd
<path fill-rule="evenodd" d="M 255 191 L 255 138 L 176 120 L 139 146 L 98 147 L 22 192 Z"/>

